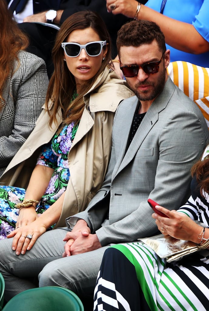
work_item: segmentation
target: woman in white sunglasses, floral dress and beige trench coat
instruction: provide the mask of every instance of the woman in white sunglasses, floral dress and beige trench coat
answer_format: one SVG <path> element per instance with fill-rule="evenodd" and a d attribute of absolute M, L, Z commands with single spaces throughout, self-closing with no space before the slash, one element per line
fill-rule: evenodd
<path fill-rule="evenodd" d="M 107 170 L 116 108 L 134 95 L 110 68 L 110 36 L 96 13 L 70 16 L 52 57 L 43 112 L 0 179 L 0 239 L 14 237 L 17 254 L 87 207 Z"/>

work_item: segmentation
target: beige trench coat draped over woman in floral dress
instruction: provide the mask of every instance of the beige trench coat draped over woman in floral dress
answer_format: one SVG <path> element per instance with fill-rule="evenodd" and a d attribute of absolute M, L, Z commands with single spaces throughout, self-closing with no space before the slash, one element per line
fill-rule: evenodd
<path fill-rule="evenodd" d="M 121 100 L 134 95 L 125 84 L 115 72 L 106 68 L 84 95 L 84 112 L 68 154 L 70 179 L 55 227 L 65 226 L 67 217 L 83 211 L 101 187 L 109 163 L 116 108 Z M 27 188 L 40 147 L 48 143 L 57 131 L 55 123 L 50 129 L 46 126 L 48 121 L 44 108 L 33 132 L 1 176 L 0 186 Z M 58 111 L 57 122 L 58 125 L 62 122 L 61 111 Z"/>

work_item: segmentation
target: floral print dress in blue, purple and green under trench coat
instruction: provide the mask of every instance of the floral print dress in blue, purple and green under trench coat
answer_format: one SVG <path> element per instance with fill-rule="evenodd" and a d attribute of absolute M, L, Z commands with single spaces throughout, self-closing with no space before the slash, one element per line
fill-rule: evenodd
<path fill-rule="evenodd" d="M 70 178 L 68 168 L 68 153 L 72 145 L 78 124 L 74 122 L 66 125 L 59 134 L 42 146 L 37 164 L 54 169 L 48 187 L 36 206 L 36 213 L 42 214 L 64 193 Z M 5 239 L 7 234 L 15 229 L 19 209 L 17 203 L 24 200 L 25 189 L 9 186 L 0 187 L 0 239 Z M 53 228 L 52 225 L 49 230 Z"/>

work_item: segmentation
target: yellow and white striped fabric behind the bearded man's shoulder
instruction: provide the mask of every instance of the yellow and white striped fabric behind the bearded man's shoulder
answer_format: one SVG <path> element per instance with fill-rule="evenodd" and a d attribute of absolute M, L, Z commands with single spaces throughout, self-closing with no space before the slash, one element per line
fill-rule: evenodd
<path fill-rule="evenodd" d="M 198 105 L 209 128 L 209 68 L 177 61 L 167 71 L 174 84 Z"/>

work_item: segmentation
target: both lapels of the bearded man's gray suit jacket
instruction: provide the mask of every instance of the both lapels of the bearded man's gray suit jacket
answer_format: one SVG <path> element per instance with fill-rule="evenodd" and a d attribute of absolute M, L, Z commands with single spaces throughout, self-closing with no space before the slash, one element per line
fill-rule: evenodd
<path fill-rule="evenodd" d="M 121 156 L 120 158 L 118 158 L 115 169 L 113 171 L 112 179 L 114 179 L 116 175 L 119 174 L 121 170 L 124 169 L 130 163 L 131 160 L 133 160 L 142 142 L 144 141 L 144 139 L 146 139 L 148 133 L 150 132 L 152 127 L 156 124 L 159 113 L 166 108 L 174 91 L 175 85 L 170 80 L 170 77 L 168 77 L 168 80 L 166 81 L 163 91 L 160 93 L 160 95 L 158 95 L 158 97 L 153 101 L 152 105 L 148 109 L 147 113 L 145 114 L 142 120 L 142 123 L 140 124 L 136 134 L 134 135 L 132 142 L 128 147 L 128 150 L 125 153 L 129 139 L 130 127 L 134 117 L 137 102 L 135 105 L 132 106 L 132 108 L 129 111 L 127 111 L 125 119 L 127 120 L 127 123 L 129 122 L 129 124 L 128 127 L 124 127 L 125 128 L 125 131 L 123 132 L 124 145 L 120 153 Z"/>

